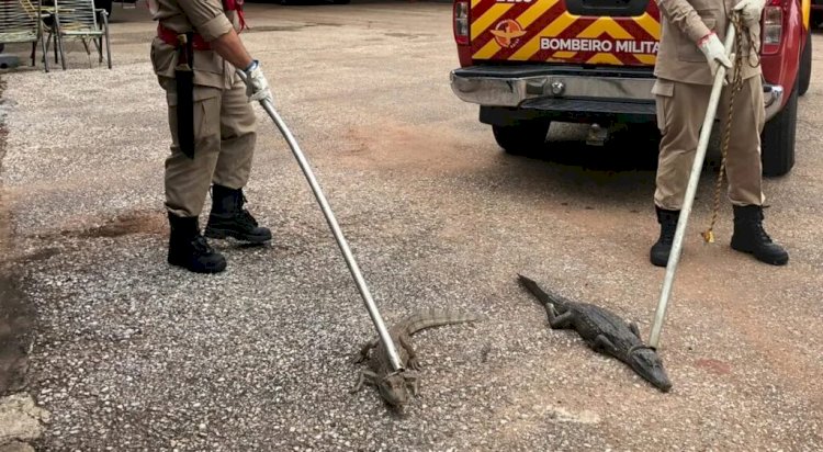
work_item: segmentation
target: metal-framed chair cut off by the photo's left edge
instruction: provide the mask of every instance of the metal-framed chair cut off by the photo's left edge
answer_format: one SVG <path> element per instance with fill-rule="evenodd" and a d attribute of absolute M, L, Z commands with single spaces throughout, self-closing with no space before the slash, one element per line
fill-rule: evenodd
<path fill-rule="evenodd" d="M 43 16 L 40 0 L 0 0 L 0 43 L 32 43 L 32 66 L 37 43 L 43 47 L 43 64 L 48 71 L 46 43 L 43 41 Z"/>

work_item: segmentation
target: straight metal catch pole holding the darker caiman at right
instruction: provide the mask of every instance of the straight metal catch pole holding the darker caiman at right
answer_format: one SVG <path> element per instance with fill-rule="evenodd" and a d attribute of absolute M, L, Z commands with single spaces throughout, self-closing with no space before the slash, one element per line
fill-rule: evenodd
<path fill-rule="evenodd" d="M 734 24 L 730 21 L 729 29 L 726 30 L 725 34 L 725 42 L 723 43 L 726 55 L 730 55 L 732 53 L 732 49 L 734 48 L 734 39 L 736 37 L 735 35 L 736 30 L 734 27 Z M 657 348 L 659 344 L 661 329 L 663 328 L 663 320 L 666 318 L 666 307 L 668 305 L 668 300 L 672 296 L 672 285 L 674 284 L 677 263 L 680 260 L 680 252 L 683 251 L 683 237 L 686 233 L 686 225 L 689 221 L 689 214 L 691 213 L 691 204 L 695 202 L 697 185 L 700 181 L 700 172 L 703 168 L 706 150 L 709 147 L 709 138 L 711 136 L 711 129 L 714 124 L 714 116 L 718 112 L 720 94 L 723 91 L 723 80 L 725 79 L 725 66 L 719 65 L 718 71 L 714 75 L 714 83 L 711 88 L 711 95 L 709 97 L 709 106 L 706 109 L 706 117 L 703 118 L 703 125 L 700 128 L 700 138 L 697 144 L 695 163 L 691 166 L 689 184 L 686 187 L 686 195 L 684 196 L 683 207 L 680 208 L 680 217 L 677 221 L 677 229 L 675 230 L 675 239 L 672 244 L 672 252 L 669 252 L 668 262 L 666 263 L 666 275 L 663 280 L 663 290 L 661 292 L 659 302 L 657 303 L 657 312 L 654 314 L 652 332 L 649 338 L 649 344 L 654 348 Z"/>

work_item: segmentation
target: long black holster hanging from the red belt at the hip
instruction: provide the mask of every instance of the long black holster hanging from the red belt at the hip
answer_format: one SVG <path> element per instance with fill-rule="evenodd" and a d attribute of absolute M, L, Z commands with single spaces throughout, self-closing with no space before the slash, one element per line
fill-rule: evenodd
<path fill-rule="evenodd" d="M 177 140 L 180 151 L 194 158 L 194 48 L 192 33 L 178 35 L 178 65 L 174 67 L 177 86 Z"/>

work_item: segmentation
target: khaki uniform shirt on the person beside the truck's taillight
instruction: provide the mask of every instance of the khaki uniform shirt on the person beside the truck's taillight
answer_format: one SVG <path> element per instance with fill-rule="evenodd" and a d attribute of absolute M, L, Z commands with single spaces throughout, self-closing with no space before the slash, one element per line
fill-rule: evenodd
<path fill-rule="evenodd" d="M 662 79 L 685 83 L 712 84 L 711 70 L 697 43 L 710 31 L 714 31 L 723 42 L 730 23 L 729 18 L 740 0 L 656 1 L 661 10 L 662 30 L 654 75 Z M 749 41 L 743 39 L 742 72 L 744 79 L 760 74 L 760 65 L 756 55 L 760 46 L 759 22 L 752 24 L 749 34 L 755 49 L 752 52 Z M 731 72 L 730 69 L 730 78 Z"/>

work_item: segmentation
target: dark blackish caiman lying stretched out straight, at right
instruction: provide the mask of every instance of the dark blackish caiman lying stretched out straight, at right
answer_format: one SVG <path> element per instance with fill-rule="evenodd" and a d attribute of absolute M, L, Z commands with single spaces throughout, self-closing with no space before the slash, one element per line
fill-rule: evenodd
<path fill-rule="evenodd" d="M 596 352 L 624 362 L 664 393 L 672 388 L 661 358 L 652 347 L 643 343 L 635 324 L 627 324 L 599 306 L 548 293 L 522 274 L 518 274 L 518 278 L 545 307 L 552 329 L 574 329 Z"/>

